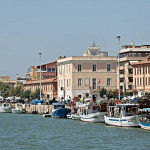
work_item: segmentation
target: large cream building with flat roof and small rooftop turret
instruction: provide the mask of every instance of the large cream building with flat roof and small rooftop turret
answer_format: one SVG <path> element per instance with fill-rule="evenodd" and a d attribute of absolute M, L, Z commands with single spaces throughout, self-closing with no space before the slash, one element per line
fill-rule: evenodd
<path fill-rule="evenodd" d="M 99 98 L 102 88 L 115 90 L 116 57 L 93 45 L 83 56 L 60 57 L 57 60 L 58 98 Z"/>

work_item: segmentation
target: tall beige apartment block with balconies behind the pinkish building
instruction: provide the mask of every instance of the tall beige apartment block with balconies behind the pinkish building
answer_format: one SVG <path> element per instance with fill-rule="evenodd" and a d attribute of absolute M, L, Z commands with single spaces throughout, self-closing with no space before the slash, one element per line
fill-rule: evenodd
<path fill-rule="evenodd" d="M 127 92 L 132 92 L 133 67 L 131 65 L 135 62 L 139 62 L 146 59 L 149 53 L 150 53 L 150 45 L 135 46 L 134 43 L 131 42 L 131 45 L 122 46 L 122 50 L 119 53 L 120 89 L 122 89 L 123 91 L 126 90 Z M 119 81 L 119 76 L 117 76 L 117 88 L 119 85 L 118 81 Z"/>

